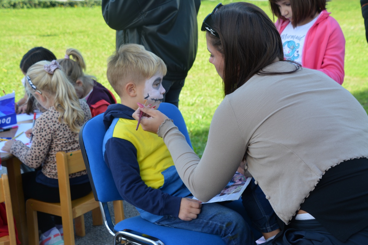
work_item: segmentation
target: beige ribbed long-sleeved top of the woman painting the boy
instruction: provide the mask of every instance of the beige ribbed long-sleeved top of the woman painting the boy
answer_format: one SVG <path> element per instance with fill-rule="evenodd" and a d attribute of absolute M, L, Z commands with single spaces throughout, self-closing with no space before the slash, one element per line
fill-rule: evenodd
<path fill-rule="evenodd" d="M 276 62 L 269 72 L 295 66 Z M 163 136 L 185 185 L 201 201 L 218 194 L 244 155 L 248 170 L 285 223 L 325 171 L 368 157 L 368 116 L 360 103 L 322 72 L 255 75 L 225 96 L 213 115 L 199 160 L 171 121 Z"/>

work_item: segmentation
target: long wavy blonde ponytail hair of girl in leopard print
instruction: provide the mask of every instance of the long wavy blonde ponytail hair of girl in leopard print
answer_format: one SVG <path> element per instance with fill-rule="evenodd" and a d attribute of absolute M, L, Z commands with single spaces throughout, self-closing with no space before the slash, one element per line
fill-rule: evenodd
<path fill-rule="evenodd" d="M 49 65 L 49 61 L 39 61 L 29 67 L 26 76 L 29 76 L 32 84 L 36 89 L 32 88 L 30 83 L 26 81 L 25 88 L 28 98 L 33 96 L 36 91 L 43 95 L 52 96 L 54 98 L 54 107 L 60 112 L 59 122 L 69 125 L 73 132 L 78 133 L 80 124 L 84 120 L 84 112 L 79 105 L 77 93 L 73 85 L 69 82 L 66 74 L 55 69 L 54 74 L 45 71 L 45 65 Z M 64 117 L 64 121 L 61 118 Z"/>

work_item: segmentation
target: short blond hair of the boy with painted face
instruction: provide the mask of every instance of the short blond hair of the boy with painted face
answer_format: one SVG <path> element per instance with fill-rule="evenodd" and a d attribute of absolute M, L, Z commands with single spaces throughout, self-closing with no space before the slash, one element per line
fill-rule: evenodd
<path fill-rule="evenodd" d="M 145 50 L 142 45 L 123 44 L 110 56 L 106 75 L 111 87 L 122 96 L 125 84 L 139 84 L 156 73 L 165 75 L 166 72 L 166 65 L 159 56 Z"/>

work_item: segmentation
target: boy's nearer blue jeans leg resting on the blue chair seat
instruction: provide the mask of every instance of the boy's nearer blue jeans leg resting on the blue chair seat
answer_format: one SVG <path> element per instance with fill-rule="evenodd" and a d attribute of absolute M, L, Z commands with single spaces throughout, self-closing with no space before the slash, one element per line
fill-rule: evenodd
<path fill-rule="evenodd" d="M 250 227 L 243 217 L 217 203 L 203 204 L 197 219 L 183 221 L 173 216 L 163 216 L 155 224 L 216 234 L 222 237 L 227 245 L 255 244 Z"/>

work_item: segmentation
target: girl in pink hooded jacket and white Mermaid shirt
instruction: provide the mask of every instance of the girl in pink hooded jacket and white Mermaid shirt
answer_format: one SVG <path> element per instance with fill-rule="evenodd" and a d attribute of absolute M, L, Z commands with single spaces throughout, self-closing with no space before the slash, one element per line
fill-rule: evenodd
<path fill-rule="evenodd" d="M 326 0 L 269 0 L 284 58 L 344 81 L 345 38 Z M 314 7 L 312 7 L 314 6 Z"/>

